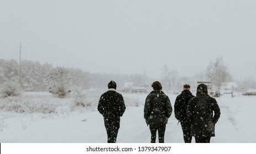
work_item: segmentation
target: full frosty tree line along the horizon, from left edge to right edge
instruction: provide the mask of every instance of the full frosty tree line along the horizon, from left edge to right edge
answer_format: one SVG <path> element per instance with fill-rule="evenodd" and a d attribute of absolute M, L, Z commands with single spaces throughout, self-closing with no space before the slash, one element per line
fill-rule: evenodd
<path fill-rule="evenodd" d="M 218 89 L 221 83 L 233 81 L 228 68 L 224 65 L 222 58 L 211 62 L 206 71 L 194 76 L 180 76 L 177 70 L 170 70 L 164 65 L 160 79 L 150 79 L 146 74 L 102 74 L 90 73 L 81 69 L 53 67 L 51 64 L 40 64 L 39 62 L 17 61 L 0 59 L 0 85 L 14 83 L 19 85 L 23 91 L 50 91 L 54 93 L 54 86 L 69 87 L 66 91 L 86 90 L 91 88 L 104 89 L 106 83 L 115 80 L 118 89 L 122 90 L 124 83 L 132 82 L 134 86 L 145 86 L 150 88 L 150 83 L 159 80 L 164 90 L 179 90 L 184 84 L 196 87 L 196 81 L 211 81 Z M 255 81 L 250 80 L 250 86 L 256 87 Z M 247 80 L 240 81 L 240 85 L 246 86 Z M 61 85 L 62 84 L 62 85 Z M 246 88 L 246 87 L 245 87 Z"/>

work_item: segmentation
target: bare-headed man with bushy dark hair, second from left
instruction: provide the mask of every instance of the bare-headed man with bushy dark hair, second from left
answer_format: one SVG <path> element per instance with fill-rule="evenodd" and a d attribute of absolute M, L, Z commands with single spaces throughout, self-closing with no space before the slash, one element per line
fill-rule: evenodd
<path fill-rule="evenodd" d="M 173 112 L 170 99 L 161 91 L 162 86 L 159 81 L 152 84 L 153 91 L 147 96 L 144 106 L 144 118 L 149 124 L 151 133 L 151 143 L 155 143 L 156 131 L 158 131 L 159 143 L 164 143 L 164 134 L 168 118 Z"/>

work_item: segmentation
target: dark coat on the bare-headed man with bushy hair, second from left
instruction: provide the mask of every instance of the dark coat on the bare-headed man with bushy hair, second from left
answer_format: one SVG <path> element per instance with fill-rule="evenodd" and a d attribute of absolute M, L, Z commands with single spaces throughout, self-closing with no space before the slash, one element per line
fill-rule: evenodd
<path fill-rule="evenodd" d="M 173 108 L 170 99 L 163 91 L 152 91 L 144 106 L 144 118 L 147 124 L 167 124 Z"/>

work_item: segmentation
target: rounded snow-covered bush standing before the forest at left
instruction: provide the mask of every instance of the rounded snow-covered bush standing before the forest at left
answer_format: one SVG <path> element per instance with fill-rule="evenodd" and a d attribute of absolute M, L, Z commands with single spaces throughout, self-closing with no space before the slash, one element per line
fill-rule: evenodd
<path fill-rule="evenodd" d="M 57 67 L 51 71 L 47 81 L 49 92 L 53 93 L 54 96 L 64 98 L 71 92 L 70 72 L 63 67 Z"/>

